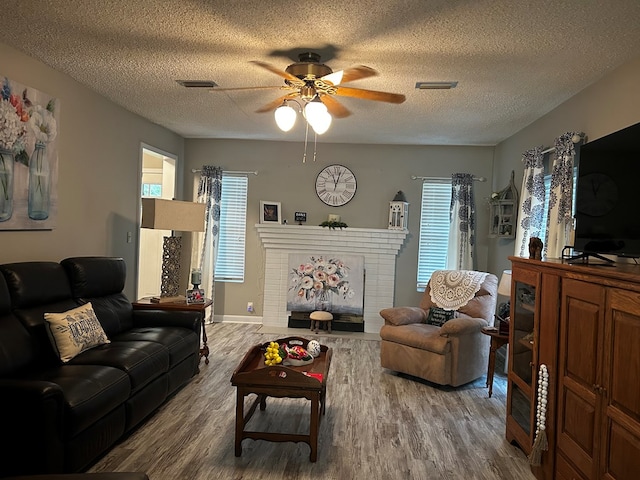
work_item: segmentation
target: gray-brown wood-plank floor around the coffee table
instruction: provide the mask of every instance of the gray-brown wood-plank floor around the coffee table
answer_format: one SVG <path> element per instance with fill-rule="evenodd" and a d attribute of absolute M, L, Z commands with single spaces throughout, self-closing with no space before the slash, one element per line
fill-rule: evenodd
<path fill-rule="evenodd" d="M 235 457 L 231 374 L 251 345 L 278 338 L 259 329 L 208 325 L 209 365 L 89 471 L 144 471 L 151 480 L 534 479 L 504 438 L 504 374 L 496 372 L 492 398 L 485 377 L 437 387 L 381 368 L 378 341 L 329 335 L 321 336 L 333 359 L 318 461 L 309 462 L 306 443 L 250 439 Z M 249 427 L 306 433 L 309 411 L 306 400 L 270 398 Z"/>

